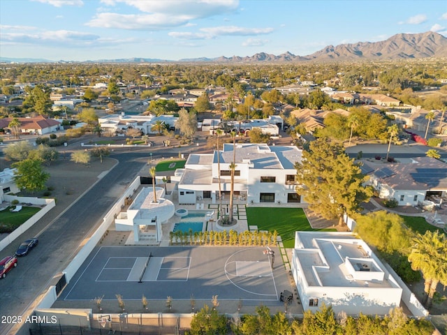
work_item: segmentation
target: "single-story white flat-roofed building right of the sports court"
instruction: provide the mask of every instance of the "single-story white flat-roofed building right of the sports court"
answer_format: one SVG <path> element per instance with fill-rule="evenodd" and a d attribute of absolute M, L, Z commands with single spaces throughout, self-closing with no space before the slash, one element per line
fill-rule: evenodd
<path fill-rule="evenodd" d="M 371 248 L 349 232 L 295 232 L 292 273 L 305 311 L 385 315 L 402 287 Z"/>

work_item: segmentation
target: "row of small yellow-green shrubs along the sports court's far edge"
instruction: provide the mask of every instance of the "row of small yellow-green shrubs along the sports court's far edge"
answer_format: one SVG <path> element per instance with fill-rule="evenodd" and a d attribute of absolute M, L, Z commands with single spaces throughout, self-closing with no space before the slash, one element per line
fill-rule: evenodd
<path fill-rule="evenodd" d="M 258 232 L 257 230 L 237 233 L 235 230 L 219 232 L 177 232 L 169 233 L 170 244 L 203 246 L 276 246 L 278 232 Z"/>

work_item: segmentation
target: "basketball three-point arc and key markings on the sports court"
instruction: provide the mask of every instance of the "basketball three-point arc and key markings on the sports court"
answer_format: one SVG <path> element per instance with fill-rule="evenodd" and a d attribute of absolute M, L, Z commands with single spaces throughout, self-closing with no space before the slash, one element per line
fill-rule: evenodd
<path fill-rule="evenodd" d="M 261 250 L 261 248 L 258 248 L 258 249 Z M 235 285 L 235 287 L 239 288 L 240 290 L 242 290 L 244 292 L 251 293 L 252 295 L 272 296 L 272 297 L 277 298 L 276 293 L 275 294 L 266 294 L 266 293 L 254 292 L 252 290 L 247 290 L 245 288 L 242 288 L 240 285 L 235 283 L 235 281 L 233 281 L 232 278 L 271 277 L 273 285 L 274 285 L 274 291 L 276 292 L 276 285 L 274 284 L 273 272 L 272 272 L 272 269 L 270 268 L 269 261 L 263 262 L 263 261 L 259 261 L 259 260 L 253 260 L 253 261 L 231 260 L 231 258 L 233 258 L 235 255 L 237 255 L 239 253 L 243 253 L 244 251 L 248 251 L 248 250 L 253 250 L 253 248 L 245 248 L 243 250 L 236 251 L 232 255 L 228 256 L 228 258 L 225 262 L 225 267 L 224 267 L 226 278 L 228 279 L 228 281 L 230 281 L 230 283 Z M 231 269 L 229 269 L 230 267 L 234 267 L 234 269 L 231 270 Z M 268 269 L 266 269 L 266 267 L 268 267 Z M 232 278 L 230 278 L 230 277 L 232 277 Z"/>

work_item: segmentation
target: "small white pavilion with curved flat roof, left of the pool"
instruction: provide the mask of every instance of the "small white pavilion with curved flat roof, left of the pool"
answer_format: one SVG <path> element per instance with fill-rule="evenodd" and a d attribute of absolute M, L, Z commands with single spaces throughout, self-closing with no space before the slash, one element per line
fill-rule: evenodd
<path fill-rule="evenodd" d="M 143 187 L 126 211 L 117 214 L 115 229 L 117 231 L 133 231 L 133 241 L 161 241 L 161 224 L 175 214 L 172 201 L 164 199 L 165 189 L 156 187 L 156 202 L 154 189 Z"/>

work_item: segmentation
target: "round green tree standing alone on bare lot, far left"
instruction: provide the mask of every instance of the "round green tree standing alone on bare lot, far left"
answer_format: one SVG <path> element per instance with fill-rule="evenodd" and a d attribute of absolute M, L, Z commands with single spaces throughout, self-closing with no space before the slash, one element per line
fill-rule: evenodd
<path fill-rule="evenodd" d="M 31 193 L 43 190 L 45 183 L 50 178 L 50 174 L 43 170 L 40 159 L 27 158 L 12 166 L 17 169 L 14 172 L 14 181 L 17 187 L 26 188 Z"/>

